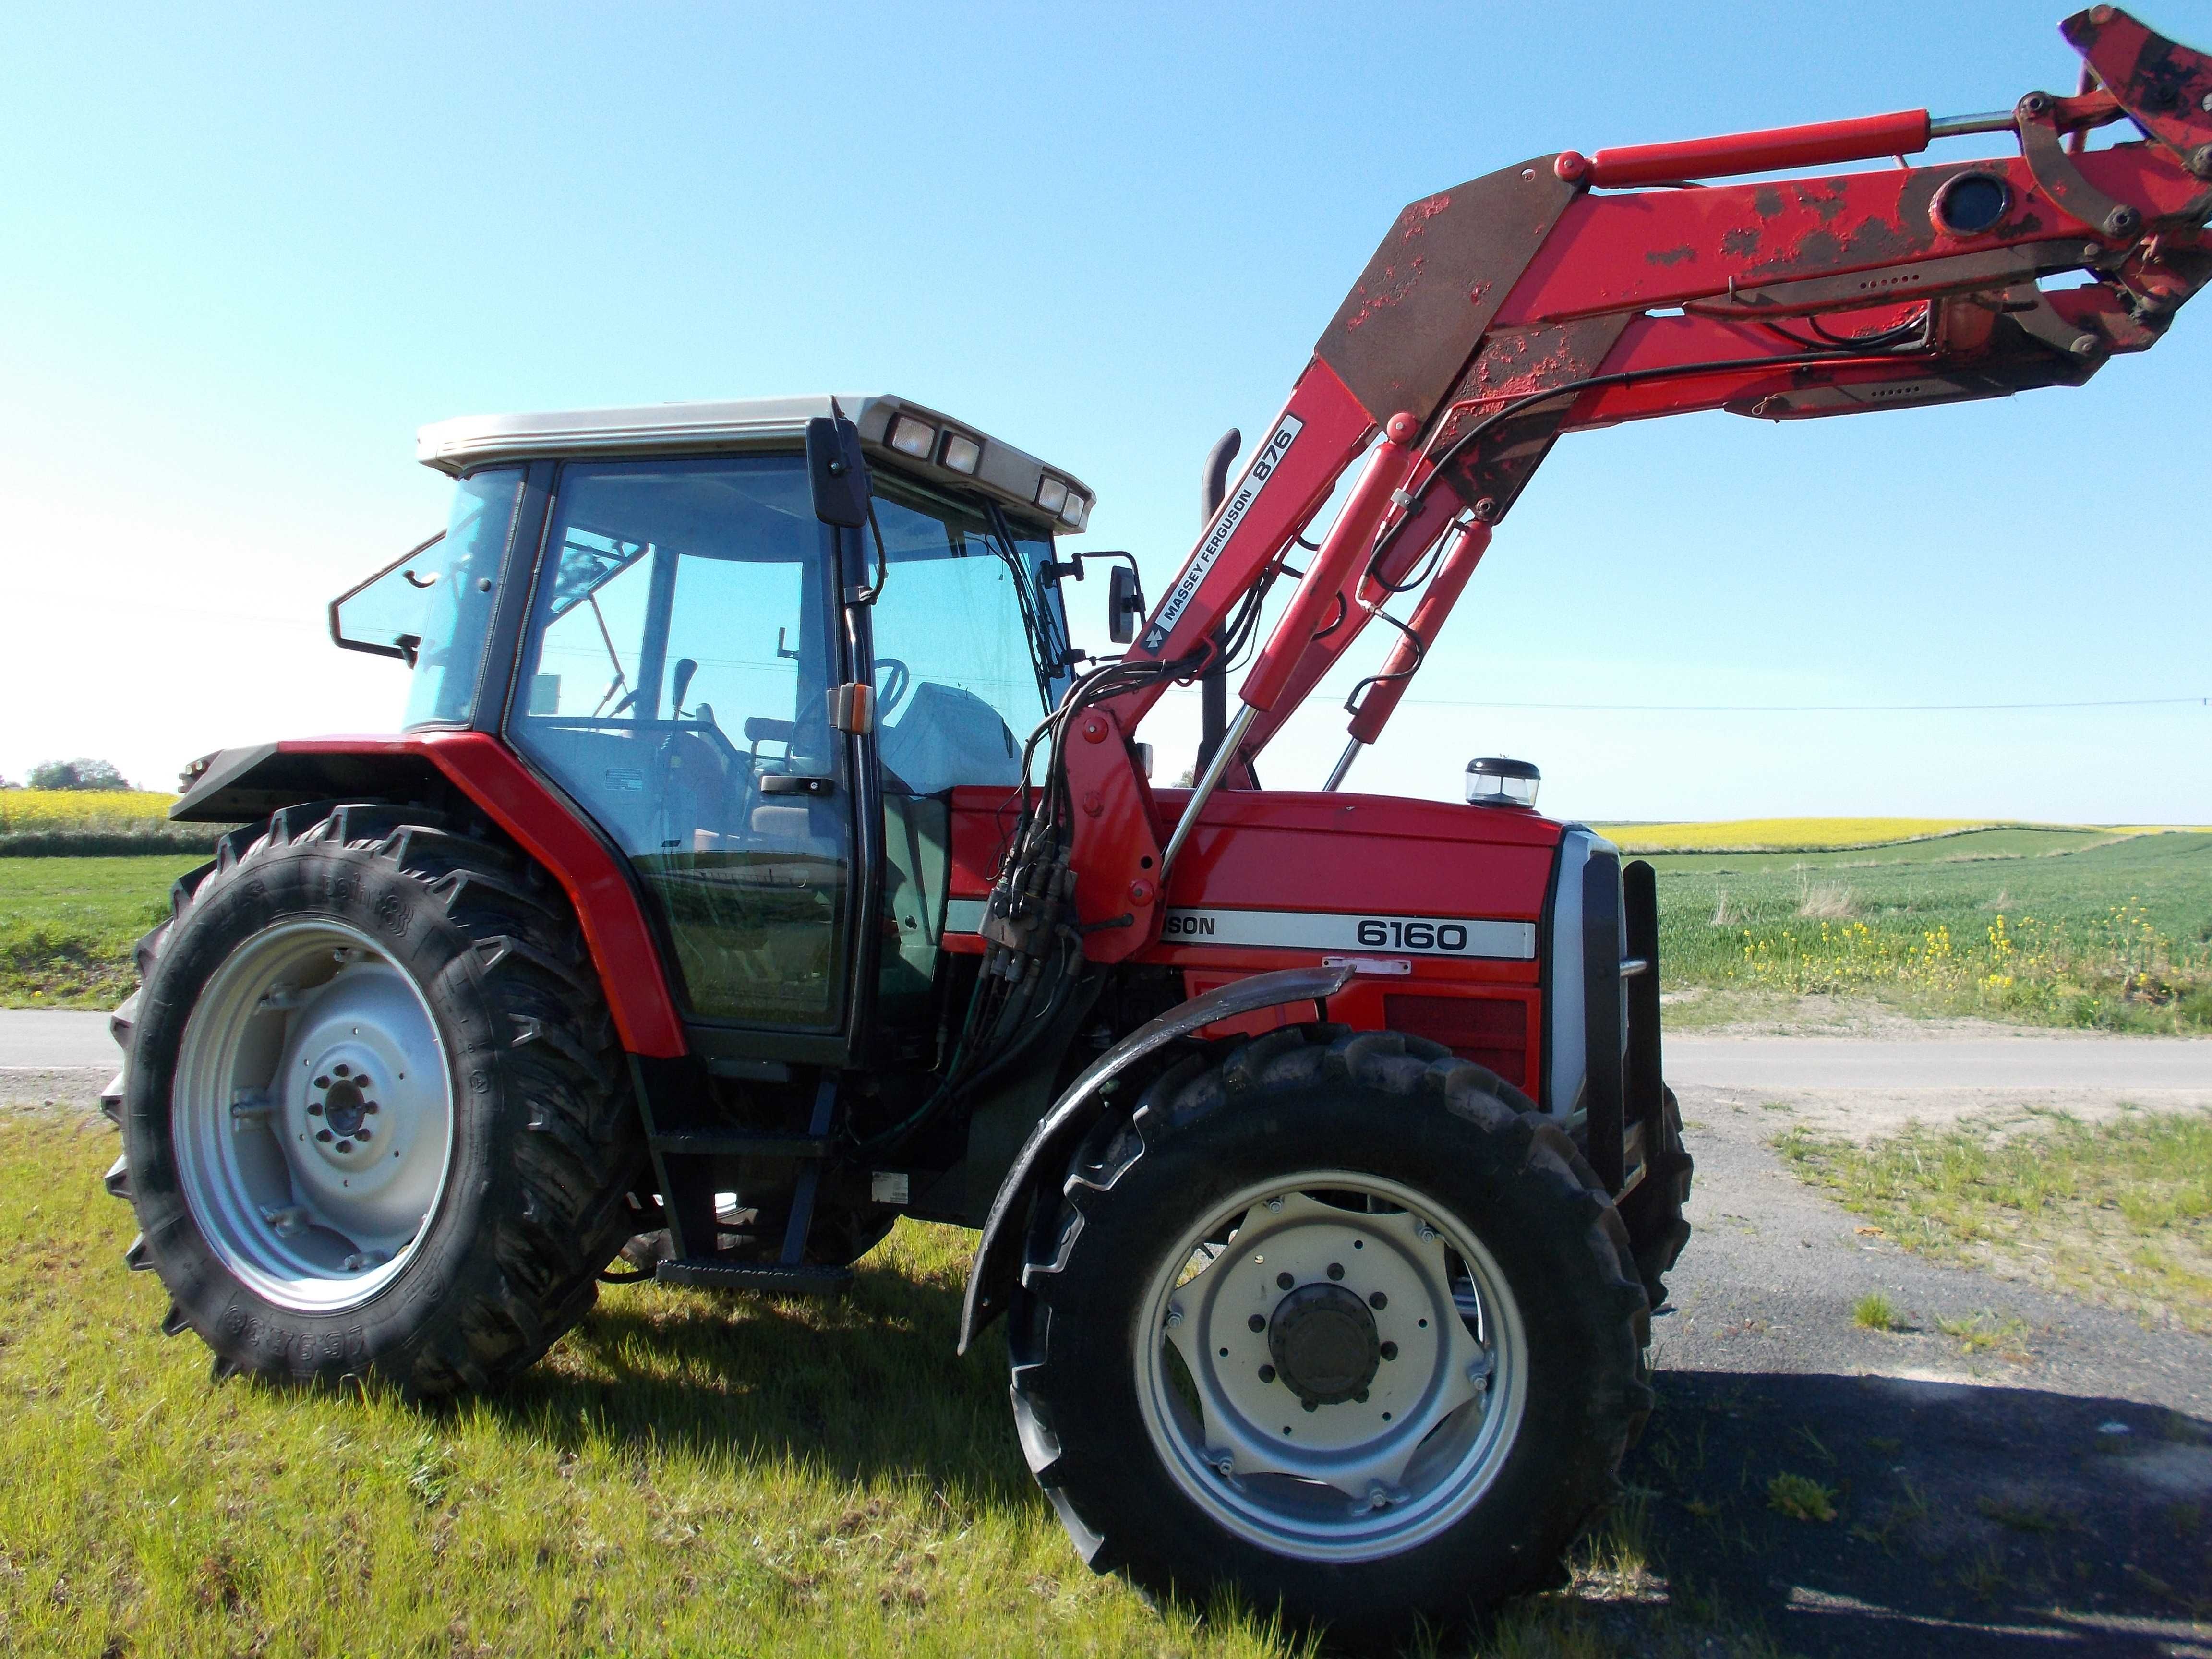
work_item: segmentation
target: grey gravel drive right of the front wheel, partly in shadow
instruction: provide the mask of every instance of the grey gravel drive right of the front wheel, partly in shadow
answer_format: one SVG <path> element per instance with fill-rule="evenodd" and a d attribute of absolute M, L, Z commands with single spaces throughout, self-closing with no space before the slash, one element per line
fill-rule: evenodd
<path fill-rule="evenodd" d="M 2143 1042 L 2053 1040 L 2053 1057 L 2095 1044 L 2117 1066 Z M 1652 1327 L 1659 1409 L 1628 1469 L 1677 1599 L 1719 1593 L 1805 1655 L 2212 1655 L 2212 1343 L 1911 1256 L 1770 1148 L 1792 1124 L 2194 1110 L 2212 1088 L 1741 1088 L 1690 1082 L 1721 1066 L 1686 1048 L 1668 1071 L 1697 1234 Z M 1807 1042 L 1798 1075 L 1834 1079 L 1827 1048 Z M 1876 1290 L 1907 1329 L 1854 1323 Z M 2002 1340 L 1969 1349 L 1938 1321 Z M 1778 1513 L 1776 1475 L 1825 1489 L 1834 1520 Z M 1659 1641 L 1637 1615 L 1621 1635 L 1639 1624 Z"/>

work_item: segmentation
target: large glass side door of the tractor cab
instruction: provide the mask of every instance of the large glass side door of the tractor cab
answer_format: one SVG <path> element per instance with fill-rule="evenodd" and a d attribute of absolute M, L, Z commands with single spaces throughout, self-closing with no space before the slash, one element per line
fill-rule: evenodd
<path fill-rule="evenodd" d="M 801 456 L 560 469 L 509 737 L 628 854 L 695 1022 L 836 1037 L 854 1015 L 838 562 Z"/>

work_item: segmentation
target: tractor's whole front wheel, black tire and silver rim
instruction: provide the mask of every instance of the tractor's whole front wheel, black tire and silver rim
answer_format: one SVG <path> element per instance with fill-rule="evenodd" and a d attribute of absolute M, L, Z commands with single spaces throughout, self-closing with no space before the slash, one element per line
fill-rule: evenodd
<path fill-rule="evenodd" d="M 1391 1632 L 1542 1582 L 1650 1409 L 1619 1217 L 1489 1073 L 1279 1031 L 1084 1144 L 1013 1307 L 1022 1449 L 1099 1571 Z"/>

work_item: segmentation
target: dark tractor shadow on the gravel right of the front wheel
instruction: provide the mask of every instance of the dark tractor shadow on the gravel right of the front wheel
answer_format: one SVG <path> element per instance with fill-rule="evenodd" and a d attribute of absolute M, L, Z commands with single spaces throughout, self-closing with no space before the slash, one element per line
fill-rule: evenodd
<path fill-rule="evenodd" d="M 1677 1615 L 1717 1604 L 1801 1655 L 2212 1650 L 2208 1422 L 1878 1376 L 1657 1389 L 1624 1475 Z"/>

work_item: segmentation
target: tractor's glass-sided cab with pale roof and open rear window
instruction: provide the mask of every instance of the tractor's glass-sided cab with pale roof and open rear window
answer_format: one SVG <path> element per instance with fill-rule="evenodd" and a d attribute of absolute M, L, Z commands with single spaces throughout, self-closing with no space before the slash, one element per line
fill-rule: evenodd
<path fill-rule="evenodd" d="M 816 511 L 825 416 L 865 526 Z M 887 396 L 471 416 L 418 458 L 451 520 L 332 635 L 411 664 L 409 730 L 502 734 L 619 849 L 695 1053 L 830 1064 L 933 1022 L 949 792 L 1024 776 L 1091 489 Z"/>

